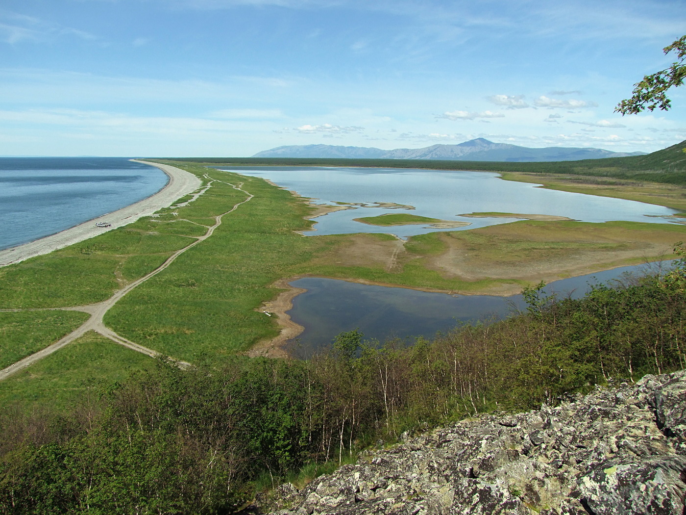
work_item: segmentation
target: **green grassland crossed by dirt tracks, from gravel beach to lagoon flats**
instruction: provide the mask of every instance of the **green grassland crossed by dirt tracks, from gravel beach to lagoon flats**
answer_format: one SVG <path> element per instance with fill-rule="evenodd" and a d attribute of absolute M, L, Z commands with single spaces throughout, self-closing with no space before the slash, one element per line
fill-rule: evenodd
<path fill-rule="evenodd" d="M 478 292 L 495 284 L 517 288 L 530 286 L 517 278 L 466 282 L 428 269 L 426 260 L 446 248 L 445 241 L 437 233 L 410 238 L 405 251 L 412 259 L 401 262 L 393 271 L 380 264 L 339 264 L 329 257 L 348 244 L 349 235 L 305 237 L 295 232 L 307 229 L 313 223 L 304 219 L 312 211 L 306 199 L 294 197 L 255 177 L 194 163 L 175 165 L 197 174 L 204 183 L 214 181 L 211 188 L 186 206 L 162 209 L 156 216 L 141 218 L 126 227 L 0 268 L 0 309 L 40 310 L 0 313 L 0 364 L 6 366 L 20 356 L 53 343 L 78 327 L 87 316 L 79 312 L 43 309 L 81 306 L 108 299 L 116 290 L 153 271 L 174 251 L 202 236 L 215 222 L 215 216 L 226 213 L 247 198 L 245 192 L 235 190 L 229 183 L 242 183 L 244 190 L 255 197 L 226 214 L 211 238 L 180 255 L 165 271 L 123 297 L 106 314 L 104 320 L 108 327 L 162 354 L 190 363 L 219 364 L 248 350 L 257 341 L 278 334 L 276 321 L 257 308 L 280 293 L 281 290 L 270 285 L 284 277 L 309 274 L 465 293 Z M 403 217 L 403 223 L 407 223 L 407 217 L 415 221 L 424 218 L 394 216 Z M 381 218 L 386 223 L 391 220 L 387 217 L 372 218 L 376 221 Z M 395 222 L 398 220 L 388 225 Z M 545 238 L 556 241 L 556 237 L 576 230 L 565 225 L 568 223 L 578 222 L 517 222 L 517 227 L 523 229 L 514 231 L 510 240 L 504 240 L 496 233 L 489 234 L 488 230 L 492 230 L 489 228 L 440 234 L 471 238 L 475 247 L 490 249 L 484 251 L 484 259 L 496 260 L 501 259 L 502 252 L 509 252 L 516 258 L 518 252 L 532 246 L 532 241 L 539 237 L 535 235 L 542 231 Z M 515 227 L 514 224 L 508 226 Z M 588 231 L 590 226 L 593 224 L 578 230 Z M 640 230 L 657 229 L 655 225 L 650 226 Z M 617 225 L 613 228 L 620 238 L 627 229 L 632 227 Z M 686 227 L 683 225 L 662 225 L 661 230 L 674 233 L 674 241 L 685 239 Z M 394 240 L 383 234 L 364 235 L 364 238 L 372 243 Z M 535 251 L 539 255 L 554 256 L 587 244 L 570 241 L 543 245 L 545 248 L 542 245 L 536 243 Z M 153 362 L 147 356 L 110 342 L 101 345 L 100 336 L 84 339 L 87 345 L 82 345 L 82 341 L 69 345 L 1 382 L 0 403 L 17 399 L 38 402 L 49 398 L 51 391 L 78 391 L 76 383 L 90 378 L 121 380 L 126 376 L 126 370 Z M 55 395 L 59 399 L 66 398 L 67 394 Z"/>

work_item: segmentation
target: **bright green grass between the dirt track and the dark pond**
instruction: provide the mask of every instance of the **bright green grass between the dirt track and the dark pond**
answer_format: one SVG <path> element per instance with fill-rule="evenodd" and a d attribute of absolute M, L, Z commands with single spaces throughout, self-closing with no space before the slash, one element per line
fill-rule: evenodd
<path fill-rule="evenodd" d="M 295 232 L 311 226 L 303 220 L 311 210 L 305 201 L 255 177 L 218 170 L 209 176 L 224 182 L 188 208 L 218 216 L 247 198 L 226 183 L 243 183 L 255 197 L 225 215 L 211 238 L 132 290 L 105 319 L 122 336 L 191 363 L 200 356 L 222 361 L 276 336 L 274 320 L 257 311 L 279 291 L 270 284 L 329 246 Z M 178 209 L 179 217 L 189 218 L 186 209 Z"/>

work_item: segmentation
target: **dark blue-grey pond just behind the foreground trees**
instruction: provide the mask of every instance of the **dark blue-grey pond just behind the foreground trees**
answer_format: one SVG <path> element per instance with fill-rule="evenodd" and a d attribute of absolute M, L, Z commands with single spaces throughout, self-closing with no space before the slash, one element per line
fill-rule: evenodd
<path fill-rule="evenodd" d="M 591 284 L 626 279 L 628 273 L 657 272 L 669 264 L 623 266 L 570 277 L 548 284 L 543 291 L 560 298 L 579 298 Z M 340 332 L 355 328 L 364 333 L 365 339 L 383 343 L 397 337 L 411 342 L 416 336 L 431 339 L 436 332 L 448 332 L 460 322 L 502 319 L 517 309 L 526 309 L 521 295 L 447 295 L 320 277 L 305 277 L 289 284 L 307 289 L 294 299 L 293 309 L 288 312 L 294 322 L 305 328 L 286 345 L 288 352 L 298 358 L 308 358 L 331 345 Z"/>

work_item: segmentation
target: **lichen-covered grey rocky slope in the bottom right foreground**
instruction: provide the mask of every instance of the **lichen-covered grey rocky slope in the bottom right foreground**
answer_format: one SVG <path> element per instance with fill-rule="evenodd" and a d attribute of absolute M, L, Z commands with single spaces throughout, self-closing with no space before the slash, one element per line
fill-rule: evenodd
<path fill-rule="evenodd" d="M 283 485 L 274 515 L 683 514 L 686 372 L 463 420 Z"/>

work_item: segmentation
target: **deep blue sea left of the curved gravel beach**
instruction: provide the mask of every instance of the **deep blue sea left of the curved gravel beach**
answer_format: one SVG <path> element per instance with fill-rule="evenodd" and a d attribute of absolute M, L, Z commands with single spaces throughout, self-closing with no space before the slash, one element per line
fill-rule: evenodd
<path fill-rule="evenodd" d="M 0 249 L 117 211 L 169 178 L 128 157 L 0 157 Z"/>

